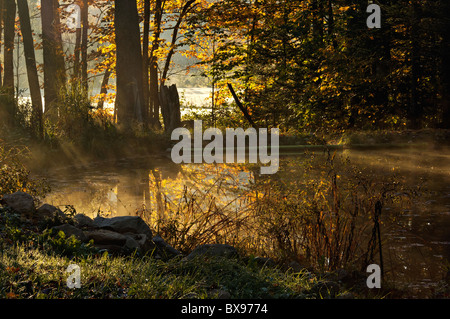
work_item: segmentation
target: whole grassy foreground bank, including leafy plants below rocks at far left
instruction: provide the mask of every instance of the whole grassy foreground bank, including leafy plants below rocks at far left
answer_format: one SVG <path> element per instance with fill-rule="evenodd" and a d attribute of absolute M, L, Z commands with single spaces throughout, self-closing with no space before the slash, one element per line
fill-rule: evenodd
<path fill-rule="evenodd" d="M 360 284 L 350 287 L 339 280 L 339 273 L 264 266 L 253 256 L 166 261 L 152 256 L 113 256 L 60 234 L 42 236 L 26 226 L 13 227 L 5 214 L 0 226 L 0 298 L 286 299 L 389 294 L 373 293 Z M 80 267 L 78 289 L 67 286 L 70 264 Z M 360 283 L 364 282 L 360 277 Z"/>

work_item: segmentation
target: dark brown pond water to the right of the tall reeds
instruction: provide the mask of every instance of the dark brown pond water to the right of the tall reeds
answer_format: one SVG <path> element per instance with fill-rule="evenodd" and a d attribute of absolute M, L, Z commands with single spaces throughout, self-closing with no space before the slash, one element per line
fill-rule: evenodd
<path fill-rule="evenodd" d="M 423 184 L 418 198 L 392 224 L 383 225 L 391 274 L 414 294 L 432 291 L 450 260 L 450 152 L 351 152 L 359 164 L 396 171 L 408 185 Z M 393 214 L 389 207 L 384 214 Z M 395 263 L 395 264 L 394 264 Z"/>

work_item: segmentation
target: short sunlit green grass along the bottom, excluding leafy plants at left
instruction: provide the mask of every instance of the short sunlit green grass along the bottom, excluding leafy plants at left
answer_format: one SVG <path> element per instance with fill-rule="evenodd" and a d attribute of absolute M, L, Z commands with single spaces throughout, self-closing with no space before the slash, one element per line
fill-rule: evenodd
<path fill-rule="evenodd" d="M 70 264 L 81 269 L 81 288 L 67 287 Z M 311 289 L 320 279 L 221 258 L 161 261 L 154 258 L 89 255 L 69 258 L 26 245 L 3 247 L 0 298 L 320 298 Z M 322 292 L 323 293 L 323 292 Z"/>

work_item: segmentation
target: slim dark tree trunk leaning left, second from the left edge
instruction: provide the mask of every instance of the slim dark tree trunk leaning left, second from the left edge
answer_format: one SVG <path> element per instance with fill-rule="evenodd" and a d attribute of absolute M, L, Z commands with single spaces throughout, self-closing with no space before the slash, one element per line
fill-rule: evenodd
<path fill-rule="evenodd" d="M 33 33 L 31 30 L 30 13 L 27 0 L 17 0 L 17 7 L 19 11 L 20 29 L 23 37 L 28 86 L 30 87 L 31 104 L 33 105 L 33 116 L 31 122 L 37 136 L 42 138 L 42 98 L 36 68 Z"/>

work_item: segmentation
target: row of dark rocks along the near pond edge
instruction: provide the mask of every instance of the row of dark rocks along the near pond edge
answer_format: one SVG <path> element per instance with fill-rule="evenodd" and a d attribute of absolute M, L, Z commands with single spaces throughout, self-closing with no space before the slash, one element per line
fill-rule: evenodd
<path fill-rule="evenodd" d="M 24 192 L 4 195 L 0 201 L 7 207 L 20 214 L 24 222 L 37 225 L 50 222 L 50 231 L 62 232 L 66 238 L 75 237 L 82 243 L 92 243 L 100 253 L 108 252 L 112 255 L 150 255 L 154 258 L 168 260 L 184 257 L 191 260 L 198 255 L 218 257 L 238 256 L 237 250 L 226 244 L 205 244 L 195 248 L 189 255 L 183 256 L 180 251 L 170 246 L 160 236 L 153 235 L 147 223 L 139 216 L 96 217 L 94 219 L 76 214 L 66 216 L 60 209 L 49 204 L 35 208 L 34 198 Z"/>

